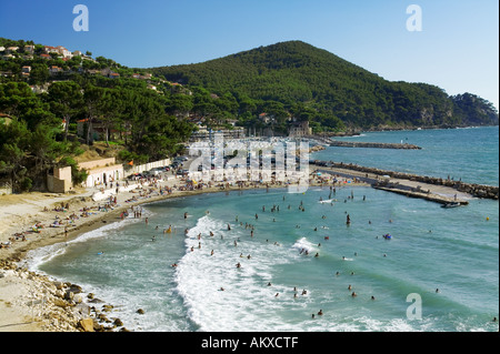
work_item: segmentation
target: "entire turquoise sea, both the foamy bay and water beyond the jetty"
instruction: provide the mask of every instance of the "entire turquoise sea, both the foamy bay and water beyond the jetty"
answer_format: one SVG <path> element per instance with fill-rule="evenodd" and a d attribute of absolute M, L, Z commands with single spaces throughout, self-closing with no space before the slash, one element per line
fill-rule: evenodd
<path fill-rule="evenodd" d="M 422 150 L 329 146 L 310 158 L 498 185 L 498 127 L 342 139 Z M 113 304 L 110 316 L 137 332 L 499 331 L 493 200 L 443 209 L 347 183 L 198 194 L 143 204 L 141 219 L 29 260 Z"/>

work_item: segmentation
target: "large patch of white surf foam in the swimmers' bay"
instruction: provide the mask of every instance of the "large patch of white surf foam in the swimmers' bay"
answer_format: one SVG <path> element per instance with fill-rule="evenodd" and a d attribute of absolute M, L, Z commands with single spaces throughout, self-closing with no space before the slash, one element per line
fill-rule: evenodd
<path fill-rule="evenodd" d="M 189 230 L 186 245 L 177 267 L 177 290 L 201 331 L 270 331 L 280 324 L 272 314 L 292 297 L 276 296 L 286 287 L 273 283 L 272 267 L 290 262 L 289 249 L 251 240 L 238 225 L 228 231 L 226 222 L 211 216 Z"/>

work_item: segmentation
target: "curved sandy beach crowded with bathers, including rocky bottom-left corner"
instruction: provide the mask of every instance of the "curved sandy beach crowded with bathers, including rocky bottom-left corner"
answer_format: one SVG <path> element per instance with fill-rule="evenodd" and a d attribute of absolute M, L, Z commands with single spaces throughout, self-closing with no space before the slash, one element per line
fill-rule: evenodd
<path fill-rule="evenodd" d="M 330 178 L 332 175 L 324 174 L 311 178 L 309 185 L 331 184 Z M 341 180 L 349 180 L 350 185 L 362 184 Z M 127 331 L 126 324 L 110 314 L 112 304 L 93 305 L 91 297 L 82 299 L 83 291 L 78 284 L 57 282 L 27 270 L 24 260 L 30 250 L 66 242 L 120 221 L 123 212 L 131 213 L 134 206 L 144 203 L 199 193 L 286 186 L 247 182 L 244 185 L 210 183 L 188 189 L 186 180 L 173 175 L 154 182 L 132 181 L 128 191 L 118 193 L 112 189 L 92 188 L 68 194 L 0 195 L 0 332 L 93 332 L 116 331 L 117 327 Z M 108 194 L 111 199 L 104 198 Z M 53 226 L 54 223 L 58 226 Z"/>

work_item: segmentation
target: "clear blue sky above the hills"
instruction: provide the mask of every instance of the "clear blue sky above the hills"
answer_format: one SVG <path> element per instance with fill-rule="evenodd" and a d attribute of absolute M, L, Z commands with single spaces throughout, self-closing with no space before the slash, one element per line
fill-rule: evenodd
<path fill-rule="evenodd" d="M 87 32 L 72 27 L 80 3 Z M 407 30 L 410 4 L 422 9 L 422 31 Z M 497 0 L 1 0 L 0 37 L 137 68 L 302 40 L 387 80 L 471 92 L 499 108 Z"/>

